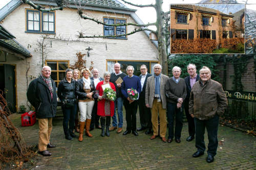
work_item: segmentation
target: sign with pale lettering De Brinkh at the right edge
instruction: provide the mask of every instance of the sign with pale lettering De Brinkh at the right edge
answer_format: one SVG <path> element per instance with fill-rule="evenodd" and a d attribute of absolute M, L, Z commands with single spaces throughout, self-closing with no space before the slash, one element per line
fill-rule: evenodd
<path fill-rule="evenodd" d="M 256 102 L 256 92 L 225 90 L 227 99 Z"/>

